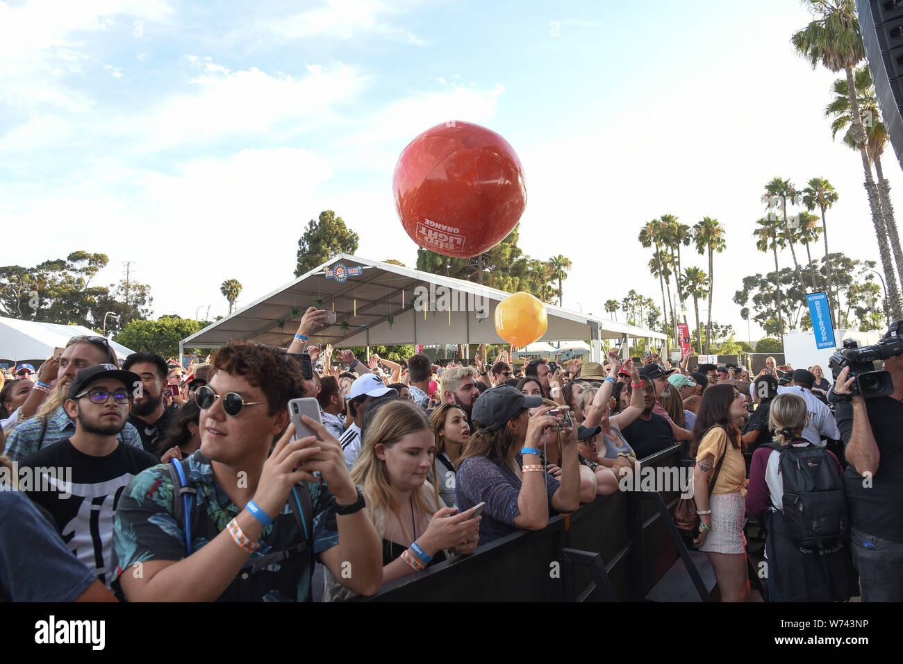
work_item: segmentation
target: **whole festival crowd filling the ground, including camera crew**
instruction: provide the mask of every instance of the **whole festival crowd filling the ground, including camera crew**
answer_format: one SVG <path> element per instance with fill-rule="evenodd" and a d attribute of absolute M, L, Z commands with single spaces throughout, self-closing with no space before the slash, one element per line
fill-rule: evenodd
<path fill-rule="evenodd" d="M 885 363 L 896 392 L 866 403 L 846 374 L 832 387 L 821 367 L 773 358 L 756 376 L 691 372 L 692 351 L 677 366 L 653 352 L 563 366 L 518 366 L 505 351 L 445 366 L 359 358 L 309 345 L 326 320 L 310 308 L 288 348 L 231 341 L 187 371 L 153 353 L 120 364 L 104 337 L 16 366 L 0 392 L 0 596 L 374 595 L 542 530 L 681 446 L 694 459 L 694 544 L 722 601 L 756 599 L 748 518 L 768 529 L 770 601 L 845 600 L 857 576 L 863 601 L 903 598 L 891 567 L 903 556 L 899 357 Z M 296 437 L 289 402 L 303 398 L 319 417 L 295 420 L 313 434 Z M 842 512 L 838 532 L 805 546 L 788 449 L 824 461 L 824 510 Z"/>

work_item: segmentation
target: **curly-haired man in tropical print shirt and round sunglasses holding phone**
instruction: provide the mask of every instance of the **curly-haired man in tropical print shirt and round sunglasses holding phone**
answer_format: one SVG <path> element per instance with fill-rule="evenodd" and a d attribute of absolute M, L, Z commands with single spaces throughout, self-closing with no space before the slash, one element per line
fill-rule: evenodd
<path fill-rule="evenodd" d="M 309 418 L 317 435 L 292 439 L 300 366 L 251 341 L 222 346 L 212 365 L 195 392 L 200 449 L 182 461 L 190 504 L 163 466 L 135 477 L 116 513 L 114 585 L 130 601 L 310 601 L 319 558 L 376 593 L 380 539 L 339 441 Z"/>

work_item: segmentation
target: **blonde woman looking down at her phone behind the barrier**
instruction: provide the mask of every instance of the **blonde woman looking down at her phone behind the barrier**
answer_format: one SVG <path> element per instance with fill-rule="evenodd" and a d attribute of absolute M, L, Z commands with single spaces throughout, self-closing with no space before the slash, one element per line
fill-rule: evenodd
<path fill-rule="evenodd" d="M 447 558 L 445 550 L 466 554 L 477 548 L 474 511 L 441 507 L 426 481 L 435 452 L 433 425 L 413 403 L 392 401 L 368 423 L 351 479 L 361 487 L 367 511 L 383 540 L 383 583 L 414 574 Z M 353 595 L 326 570 L 323 601 Z"/>

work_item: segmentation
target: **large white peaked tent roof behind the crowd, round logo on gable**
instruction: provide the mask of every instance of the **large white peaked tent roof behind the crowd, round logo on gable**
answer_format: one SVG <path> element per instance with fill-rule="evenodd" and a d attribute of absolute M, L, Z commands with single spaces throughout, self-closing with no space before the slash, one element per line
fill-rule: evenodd
<path fill-rule="evenodd" d="M 360 266 L 362 270 L 340 283 L 326 274 L 326 269 L 337 263 L 349 269 Z M 321 300 L 322 309 L 334 309 L 337 319 L 335 325 L 314 332 L 308 344 L 504 344 L 507 342 L 498 337 L 493 320 L 496 305 L 510 294 L 470 281 L 341 254 L 183 339 L 180 355 L 183 348 L 216 348 L 230 339 L 287 346 L 313 300 Z M 425 310 L 414 309 L 418 295 L 424 296 L 421 301 Z M 590 339 L 595 342 L 593 356 L 597 358 L 601 339 L 666 338 L 642 327 L 551 304 L 545 309 L 548 328 L 539 341 Z M 347 327 L 341 327 L 343 322 Z M 626 353 L 628 344 L 622 347 Z"/>

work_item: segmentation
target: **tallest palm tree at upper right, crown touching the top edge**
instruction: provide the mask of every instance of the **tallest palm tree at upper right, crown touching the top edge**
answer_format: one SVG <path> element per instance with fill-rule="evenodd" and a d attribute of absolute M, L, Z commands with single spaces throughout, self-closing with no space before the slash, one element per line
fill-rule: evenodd
<path fill-rule="evenodd" d="M 803 30 L 794 32 L 790 42 L 799 55 L 809 60 L 813 69 L 821 63 L 833 72 L 843 69 L 846 73 L 852 135 L 862 160 L 862 171 L 865 173 L 865 190 L 869 196 L 871 223 L 875 226 L 875 235 L 878 236 L 881 267 L 887 279 L 890 310 L 894 318 L 903 318 L 903 305 L 900 302 L 897 278 L 890 260 L 889 243 L 886 240 L 888 233 L 886 212 L 881 205 L 878 185 L 871 177 L 866 134 L 862 128 L 859 102 L 856 99 L 856 84 L 852 75 L 853 68 L 865 58 L 856 4 L 854 0 L 805 0 L 805 2 L 812 10 L 815 20 Z"/>

